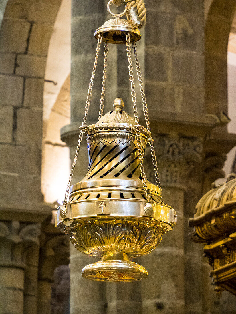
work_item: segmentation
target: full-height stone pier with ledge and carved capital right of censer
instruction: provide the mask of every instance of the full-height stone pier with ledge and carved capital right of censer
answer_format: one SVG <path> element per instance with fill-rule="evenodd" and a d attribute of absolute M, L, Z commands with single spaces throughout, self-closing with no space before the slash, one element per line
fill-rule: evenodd
<path fill-rule="evenodd" d="M 176 136 L 176 149 L 165 155 L 166 165 L 168 155 L 173 156 L 169 169 L 165 170 L 165 163 L 160 163 L 159 172 L 163 199 L 177 210 L 176 228 L 163 237 L 158 248 L 160 255 L 153 260 L 160 274 L 155 273 L 156 281 L 150 286 L 155 284 L 157 288 L 153 291 L 159 292 L 149 292 L 146 298 L 153 304 L 155 300 L 160 301 L 156 307 L 161 313 L 168 311 L 168 307 L 173 313 L 202 313 L 202 254 L 190 244 L 187 227 L 187 217 L 194 212 L 203 182 L 202 164 L 198 157 L 195 160 L 196 154 L 200 154 L 192 144 L 196 139 L 198 142 L 206 138 L 216 127 L 217 120 L 219 123 L 216 116 L 205 114 L 204 1 L 147 1 L 146 7 L 147 103 L 152 132 Z M 178 134 L 182 134 L 182 139 L 178 139 Z M 186 145 L 178 153 L 184 137 L 191 138 L 189 148 Z M 158 156 L 165 145 L 163 142 L 156 147 Z M 179 161 L 175 161 L 178 156 Z M 179 169 L 182 177 L 178 177 Z M 169 255 L 165 253 L 167 249 Z M 157 254 L 158 250 L 152 254 Z M 164 270 L 160 268 L 163 259 L 166 260 Z M 166 280 L 170 280 L 169 283 L 161 287 L 161 282 L 164 285 Z"/>

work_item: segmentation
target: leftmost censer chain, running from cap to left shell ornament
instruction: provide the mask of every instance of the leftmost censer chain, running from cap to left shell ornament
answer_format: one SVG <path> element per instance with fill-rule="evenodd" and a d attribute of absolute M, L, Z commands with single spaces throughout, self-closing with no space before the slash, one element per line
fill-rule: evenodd
<path fill-rule="evenodd" d="M 101 37 L 101 35 L 99 35 L 98 36 L 98 44 L 97 44 L 97 48 L 96 48 L 95 61 L 93 63 L 92 77 L 90 78 L 90 83 L 89 83 L 89 88 L 88 88 L 88 95 L 87 95 L 87 100 L 86 100 L 86 105 L 85 105 L 85 112 L 84 112 L 83 123 L 82 123 L 82 127 L 80 127 L 80 134 L 79 134 L 79 139 L 78 139 L 78 145 L 76 147 L 76 154 L 75 154 L 74 161 L 73 161 L 73 164 L 72 164 L 72 167 L 71 167 L 71 170 L 70 170 L 70 176 L 69 176 L 69 181 L 68 181 L 68 184 L 67 184 L 67 187 L 66 187 L 66 191 L 65 191 L 63 205 L 65 205 L 67 203 L 67 198 L 68 198 L 68 195 L 69 195 L 71 181 L 72 181 L 72 178 L 73 178 L 73 175 L 74 175 L 74 171 L 75 171 L 75 165 L 76 165 L 76 160 L 78 158 L 81 141 L 82 141 L 82 138 L 84 136 L 84 132 L 85 132 L 86 128 L 88 128 L 87 125 L 86 125 L 86 120 L 87 120 L 88 109 L 89 109 L 91 96 L 92 96 L 92 91 L 93 91 L 93 84 L 94 84 L 93 82 L 94 82 L 94 76 L 95 76 L 95 72 L 96 72 L 96 68 L 97 68 L 97 64 L 98 64 L 98 57 L 99 57 L 101 42 L 102 42 L 102 37 Z"/>

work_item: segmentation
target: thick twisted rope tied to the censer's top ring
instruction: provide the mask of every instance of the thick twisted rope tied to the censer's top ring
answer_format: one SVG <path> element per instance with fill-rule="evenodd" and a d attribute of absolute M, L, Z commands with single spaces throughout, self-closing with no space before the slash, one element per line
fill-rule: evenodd
<path fill-rule="evenodd" d="M 143 0 L 125 0 L 127 6 L 127 20 L 135 28 L 141 28 L 146 24 L 146 8 Z M 113 0 L 112 3 L 119 7 L 123 0 Z"/>

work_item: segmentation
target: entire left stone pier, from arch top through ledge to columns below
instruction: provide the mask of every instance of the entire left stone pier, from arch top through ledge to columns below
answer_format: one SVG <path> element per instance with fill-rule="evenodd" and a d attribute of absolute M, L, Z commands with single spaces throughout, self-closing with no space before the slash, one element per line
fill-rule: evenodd
<path fill-rule="evenodd" d="M 41 192 L 44 73 L 60 2 L 0 4 L 1 314 L 50 313 L 50 271 L 68 258 L 68 239 L 42 225 L 52 212 Z M 44 255 L 54 243 L 62 262 Z"/>

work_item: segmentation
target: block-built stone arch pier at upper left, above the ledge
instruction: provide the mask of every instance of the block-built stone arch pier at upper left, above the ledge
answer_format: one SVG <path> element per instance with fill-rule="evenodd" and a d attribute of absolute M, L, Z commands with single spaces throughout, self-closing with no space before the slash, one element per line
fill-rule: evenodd
<path fill-rule="evenodd" d="M 44 73 L 60 4 L 9 0 L 5 8 L 0 30 L 0 141 L 12 165 L 1 174 L 0 198 L 7 202 L 12 191 L 17 203 L 42 202 Z"/>

